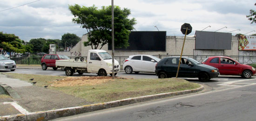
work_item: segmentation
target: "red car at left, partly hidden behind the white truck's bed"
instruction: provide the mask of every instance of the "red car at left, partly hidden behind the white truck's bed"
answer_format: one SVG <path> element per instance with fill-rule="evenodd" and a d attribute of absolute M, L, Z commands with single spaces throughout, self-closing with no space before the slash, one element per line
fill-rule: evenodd
<path fill-rule="evenodd" d="M 56 60 L 69 59 L 67 55 L 61 54 L 45 54 L 41 59 L 41 66 L 43 70 L 46 70 L 47 67 L 53 67 L 54 70 L 57 70 L 55 65 Z"/>

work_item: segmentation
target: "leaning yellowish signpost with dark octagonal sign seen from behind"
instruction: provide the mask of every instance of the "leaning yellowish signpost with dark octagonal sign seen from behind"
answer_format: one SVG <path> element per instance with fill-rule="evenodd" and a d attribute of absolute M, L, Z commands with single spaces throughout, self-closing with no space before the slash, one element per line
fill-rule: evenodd
<path fill-rule="evenodd" d="M 188 24 L 188 23 L 185 23 L 185 24 L 182 25 L 181 31 L 182 31 L 182 34 L 185 34 L 184 41 L 183 41 L 183 45 L 182 45 L 182 53 L 183 53 L 183 48 L 184 48 L 186 36 L 187 36 L 189 33 L 191 33 L 191 31 L 192 31 L 192 26 L 191 26 L 190 24 Z M 178 73 L 179 73 L 179 70 L 180 70 L 180 65 L 181 65 L 181 60 L 182 60 L 182 53 L 181 53 L 180 60 L 179 60 L 179 66 L 178 66 L 178 70 L 177 70 L 177 73 L 176 73 L 176 78 L 178 78 Z"/>

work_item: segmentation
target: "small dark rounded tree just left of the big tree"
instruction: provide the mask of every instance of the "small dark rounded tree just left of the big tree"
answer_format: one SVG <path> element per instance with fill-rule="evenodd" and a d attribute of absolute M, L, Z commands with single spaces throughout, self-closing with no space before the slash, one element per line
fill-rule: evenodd
<path fill-rule="evenodd" d="M 66 47 L 71 47 L 71 46 L 73 47 L 80 40 L 81 40 L 81 38 L 79 36 L 76 36 L 76 34 L 66 33 L 66 34 L 61 36 L 60 47 L 65 48 L 65 45 L 66 45 Z"/>

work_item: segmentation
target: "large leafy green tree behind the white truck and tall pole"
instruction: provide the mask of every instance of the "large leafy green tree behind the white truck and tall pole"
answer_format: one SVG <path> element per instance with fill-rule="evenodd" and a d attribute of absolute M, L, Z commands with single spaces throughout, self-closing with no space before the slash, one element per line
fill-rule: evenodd
<path fill-rule="evenodd" d="M 98 9 L 95 6 L 86 7 L 75 4 L 69 6 L 69 10 L 74 15 L 72 21 L 81 24 L 88 32 L 88 42 L 84 46 L 91 46 L 92 49 L 100 49 L 107 43 L 111 44 L 112 39 L 112 7 L 102 6 Z M 115 48 L 126 48 L 129 46 L 128 39 L 130 31 L 135 25 L 135 18 L 129 19 L 131 14 L 128 8 L 121 9 L 119 6 L 114 8 L 114 35 Z M 101 44 L 101 45 L 100 45 Z"/>

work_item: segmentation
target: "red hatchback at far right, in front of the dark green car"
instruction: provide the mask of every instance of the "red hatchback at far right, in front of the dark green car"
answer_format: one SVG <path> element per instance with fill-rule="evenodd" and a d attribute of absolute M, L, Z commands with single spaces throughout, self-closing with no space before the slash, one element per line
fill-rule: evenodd
<path fill-rule="evenodd" d="M 254 67 L 240 64 L 236 60 L 225 56 L 208 57 L 202 63 L 218 68 L 221 75 L 240 75 L 249 79 L 256 72 Z"/>

